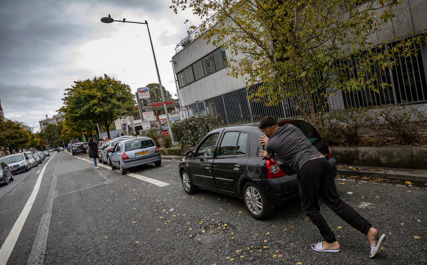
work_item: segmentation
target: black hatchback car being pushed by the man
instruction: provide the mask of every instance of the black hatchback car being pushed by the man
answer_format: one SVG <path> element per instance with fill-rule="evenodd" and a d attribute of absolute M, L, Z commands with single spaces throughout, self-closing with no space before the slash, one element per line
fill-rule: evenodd
<path fill-rule="evenodd" d="M 336 175 L 336 160 L 329 146 L 313 126 L 300 120 L 291 123 L 328 159 Z M 183 188 L 187 194 L 198 188 L 244 199 L 249 213 L 264 220 L 273 213 L 273 205 L 299 197 L 297 172 L 278 156 L 261 160 L 259 143 L 264 136 L 257 127 L 236 126 L 208 133 L 194 151 L 188 151 L 179 164 Z"/>

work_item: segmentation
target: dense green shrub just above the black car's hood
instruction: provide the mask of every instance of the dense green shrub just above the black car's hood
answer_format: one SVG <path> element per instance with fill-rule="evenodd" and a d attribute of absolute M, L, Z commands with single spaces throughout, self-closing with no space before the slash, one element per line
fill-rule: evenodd
<path fill-rule="evenodd" d="M 181 147 L 197 145 L 207 133 L 219 128 L 220 122 L 220 116 L 188 118 L 173 123 L 171 130 Z"/>

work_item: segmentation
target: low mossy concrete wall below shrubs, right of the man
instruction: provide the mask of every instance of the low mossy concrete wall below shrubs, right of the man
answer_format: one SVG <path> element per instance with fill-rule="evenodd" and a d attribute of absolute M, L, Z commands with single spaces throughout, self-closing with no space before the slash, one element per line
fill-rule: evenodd
<path fill-rule="evenodd" d="M 339 164 L 427 169 L 426 146 L 331 147 Z"/>

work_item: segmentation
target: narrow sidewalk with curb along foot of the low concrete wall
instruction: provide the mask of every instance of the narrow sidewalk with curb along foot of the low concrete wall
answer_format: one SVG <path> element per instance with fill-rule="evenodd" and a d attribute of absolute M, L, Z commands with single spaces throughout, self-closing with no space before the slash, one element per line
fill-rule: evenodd
<path fill-rule="evenodd" d="M 180 160 L 183 156 L 165 156 L 163 159 Z M 417 182 L 427 184 L 427 170 L 409 169 L 409 168 L 392 168 L 376 166 L 351 166 L 338 165 L 338 177 L 344 178 L 371 178 L 376 180 L 401 180 L 403 182 Z M 427 187 L 426 187 L 427 189 Z"/>

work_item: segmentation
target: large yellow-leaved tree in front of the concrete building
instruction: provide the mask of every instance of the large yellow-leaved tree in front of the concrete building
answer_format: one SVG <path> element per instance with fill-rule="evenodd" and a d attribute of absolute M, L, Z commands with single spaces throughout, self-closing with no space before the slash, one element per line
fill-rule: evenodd
<path fill-rule="evenodd" d="M 399 4 L 400 0 L 172 0 L 171 8 L 176 13 L 191 9 L 202 19 L 195 38 L 226 49 L 229 74 L 246 78 L 248 87 L 262 82 L 250 99 L 267 98 L 272 105 L 290 97 L 316 126 L 313 95 L 321 112 L 339 89 L 379 92 L 374 85 L 381 83 L 378 69 L 396 66 L 398 56 L 417 55 L 418 50 L 408 45 L 412 39 L 379 53 L 362 52 L 371 45 L 368 29 L 391 20 L 391 8 Z M 416 38 L 418 43 L 426 41 L 424 36 Z"/>

